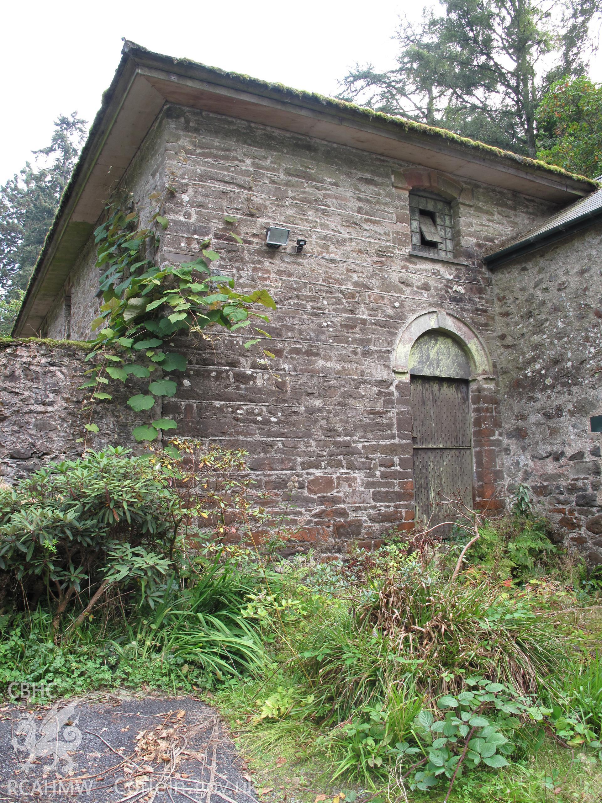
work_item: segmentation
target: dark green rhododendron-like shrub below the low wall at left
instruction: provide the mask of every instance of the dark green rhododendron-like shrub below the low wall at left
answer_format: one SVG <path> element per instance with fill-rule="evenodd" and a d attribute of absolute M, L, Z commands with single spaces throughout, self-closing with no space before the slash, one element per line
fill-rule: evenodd
<path fill-rule="evenodd" d="M 48 601 L 55 631 L 69 605 L 87 609 L 112 586 L 153 605 L 177 538 L 177 497 L 166 480 L 116 446 L 48 463 L 3 488 L 0 567 L 15 596 L 20 589 L 30 605 Z"/>

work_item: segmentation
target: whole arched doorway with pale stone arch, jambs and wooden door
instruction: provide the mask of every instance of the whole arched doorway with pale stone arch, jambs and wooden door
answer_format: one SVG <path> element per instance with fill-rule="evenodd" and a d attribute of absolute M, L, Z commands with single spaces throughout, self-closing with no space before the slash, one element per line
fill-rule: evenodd
<path fill-rule="evenodd" d="M 397 442 L 411 470 L 417 518 L 448 520 L 445 496 L 491 506 L 502 479 L 498 405 L 493 365 L 477 332 L 449 312 L 422 312 L 397 337 L 392 368 Z"/>

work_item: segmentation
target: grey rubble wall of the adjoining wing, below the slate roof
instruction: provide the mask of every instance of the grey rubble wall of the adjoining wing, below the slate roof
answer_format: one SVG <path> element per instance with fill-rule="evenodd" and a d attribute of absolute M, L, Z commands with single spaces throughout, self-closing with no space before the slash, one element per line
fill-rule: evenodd
<path fill-rule="evenodd" d="M 602 562 L 602 226 L 494 270 L 506 485 Z"/>

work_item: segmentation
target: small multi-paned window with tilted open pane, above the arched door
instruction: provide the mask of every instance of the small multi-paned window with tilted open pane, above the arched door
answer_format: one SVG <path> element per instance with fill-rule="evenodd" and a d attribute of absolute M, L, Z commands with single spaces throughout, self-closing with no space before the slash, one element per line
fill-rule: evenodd
<path fill-rule="evenodd" d="M 454 259 L 454 218 L 451 204 L 426 190 L 409 194 L 412 251 Z"/>

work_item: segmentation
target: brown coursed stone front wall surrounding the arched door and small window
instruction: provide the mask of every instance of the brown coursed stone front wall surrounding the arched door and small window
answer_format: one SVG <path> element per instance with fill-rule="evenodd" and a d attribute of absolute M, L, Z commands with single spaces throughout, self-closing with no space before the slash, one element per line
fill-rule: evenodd
<path fill-rule="evenodd" d="M 162 259 L 188 260 L 214 236 L 221 270 L 241 287 L 267 287 L 272 371 L 222 337 L 190 351 L 190 367 L 164 414 L 185 434 L 242 446 L 259 487 L 287 493 L 309 541 L 334 533 L 368 545 L 393 524 L 413 526 L 409 384 L 391 356 L 401 329 L 438 308 L 494 336 L 490 275 L 478 256 L 551 206 L 476 182 L 455 193 L 458 255 L 466 264 L 410 256 L 408 190 L 457 181 L 384 157 L 262 125 L 169 107 L 168 165 L 188 163 L 166 206 Z M 454 192 L 450 192 L 454 194 Z M 236 215 L 244 245 L 228 237 Z M 265 246 L 266 226 L 291 229 L 290 244 Z M 302 254 L 296 238 L 306 238 Z M 292 246 L 292 247 L 291 247 Z M 494 378 L 471 393 L 476 502 L 502 484 Z"/>

